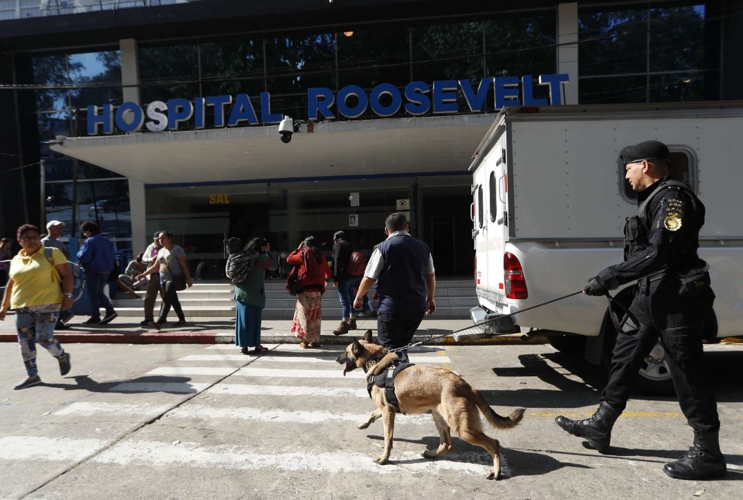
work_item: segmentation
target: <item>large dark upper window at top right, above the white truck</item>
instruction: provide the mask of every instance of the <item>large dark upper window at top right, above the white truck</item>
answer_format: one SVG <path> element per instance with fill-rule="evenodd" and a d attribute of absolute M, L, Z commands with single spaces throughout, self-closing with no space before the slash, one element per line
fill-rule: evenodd
<path fill-rule="evenodd" d="M 717 3 L 583 7 L 578 13 L 580 103 L 718 100 Z"/>

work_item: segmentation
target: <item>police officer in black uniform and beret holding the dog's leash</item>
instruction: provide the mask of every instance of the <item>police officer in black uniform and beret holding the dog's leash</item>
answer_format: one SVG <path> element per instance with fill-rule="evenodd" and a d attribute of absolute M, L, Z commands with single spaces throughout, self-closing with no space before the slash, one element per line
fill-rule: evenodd
<path fill-rule="evenodd" d="M 630 332 L 634 334 L 617 336 L 609 383 L 594 415 L 582 421 L 559 416 L 555 421 L 585 438 L 589 447 L 606 452 L 611 428 L 625 409 L 637 371 L 660 339 L 678 403 L 694 430 L 693 446 L 666 464 L 663 472 L 679 479 L 721 477 L 726 464 L 718 444 L 720 421 L 701 345 L 704 319 L 710 316 L 715 298 L 707 264 L 697 255 L 704 205 L 686 184 L 670 178 L 665 144 L 648 140 L 628 146 L 620 158 L 638 205 L 624 230 L 624 262 L 589 279 L 583 293 L 606 295 L 637 281 L 629 316 L 638 328 Z"/>

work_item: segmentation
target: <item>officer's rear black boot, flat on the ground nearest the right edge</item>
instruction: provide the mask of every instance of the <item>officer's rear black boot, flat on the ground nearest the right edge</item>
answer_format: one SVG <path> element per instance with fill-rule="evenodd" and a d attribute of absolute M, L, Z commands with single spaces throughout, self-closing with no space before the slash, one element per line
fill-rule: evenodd
<path fill-rule="evenodd" d="M 694 444 L 686 455 L 665 464 L 663 472 L 676 479 L 721 478 L 727 473 L 727 464 L 720 451 L 718 432 L 694 431 Z"/>

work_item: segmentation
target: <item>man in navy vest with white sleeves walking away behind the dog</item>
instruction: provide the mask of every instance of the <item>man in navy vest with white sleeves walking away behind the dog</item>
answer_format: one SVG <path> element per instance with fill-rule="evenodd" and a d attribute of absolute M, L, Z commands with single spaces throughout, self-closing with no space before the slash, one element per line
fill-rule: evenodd
<path fill-rule="evenodd" d="M 393 349 L 408 345 L 424 315 L 436 311 L 436 275 L 431 250 L 410 236 L 404 214 L 389 215 L 384 225 L 387 239 L 371 253 L 354 309 L 363 307 L 363 297 L 376 280 L 380 301 L 377 337 L 380 344 Z M 400 351 L 398 357 L 408 360 L 406 351 Z"/>

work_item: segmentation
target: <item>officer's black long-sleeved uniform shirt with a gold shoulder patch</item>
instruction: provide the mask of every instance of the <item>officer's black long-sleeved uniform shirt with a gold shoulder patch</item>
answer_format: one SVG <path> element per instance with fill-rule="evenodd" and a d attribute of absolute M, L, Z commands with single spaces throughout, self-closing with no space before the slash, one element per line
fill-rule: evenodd
<path fill-rule="evenodd" d="M 645 201 L 663 181 L 662 178 L 637 193 L 637 205 Z M 684 189 L 663 187 L 645 211 L 648 220 L 645 244 L 637 246 L 625 262 L 606 267 L 599 278 L 609 290 L 666 268 L 692 267 L 698 262 L 699 230 L 704 224 L 704 205 Z M 642 236 L 642 235 L 641 235 Z"/>

